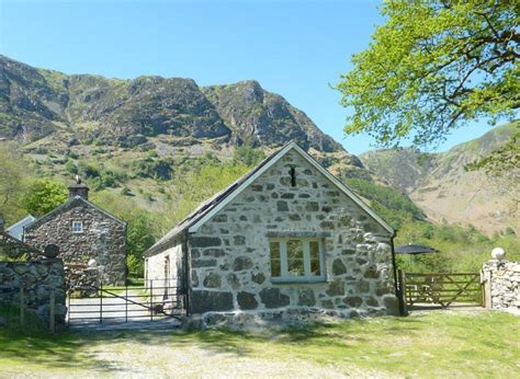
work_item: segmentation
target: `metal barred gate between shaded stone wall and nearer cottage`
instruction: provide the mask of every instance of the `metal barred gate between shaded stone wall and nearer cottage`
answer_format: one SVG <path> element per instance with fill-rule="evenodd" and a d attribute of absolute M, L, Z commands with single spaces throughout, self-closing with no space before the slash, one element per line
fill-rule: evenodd
<path fill-rule="evenodd" d="M 185 295 L 168 286 L 170 280 L 149 280 L 148 286 L 89 286 L 76 288 L 87 297 L 68 297 L 69 325 L 137 323 L 185 315 Z M 157 285 L 159 284 L 159 285 Z"/>

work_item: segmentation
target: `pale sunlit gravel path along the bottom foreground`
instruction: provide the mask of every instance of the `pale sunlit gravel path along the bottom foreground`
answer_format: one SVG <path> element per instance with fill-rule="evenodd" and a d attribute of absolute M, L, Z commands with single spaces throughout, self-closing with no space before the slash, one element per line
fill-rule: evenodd
<path fill-rule="evenodd" d="M 347 378 L 388 377 L 353 367 L 341 374 L 334 366 L 318 366 L 299 359 L 276 361 L 244 354 L 213 351 L 201 346 L 114 344 L 90 352 L 109 365 L 114 377 L 125 378 Z M 343 368 L 344 372 L 344 368 Z"/>

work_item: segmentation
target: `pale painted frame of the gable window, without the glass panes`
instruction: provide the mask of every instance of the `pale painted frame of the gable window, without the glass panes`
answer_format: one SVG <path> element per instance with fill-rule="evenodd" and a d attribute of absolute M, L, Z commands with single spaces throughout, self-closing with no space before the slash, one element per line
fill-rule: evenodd
<path fill-rule="evenodd" d="M 304 271 L 305 275 L 295 276 L 287 272 L 287 242 L 289 241 L 302 241 L 303 255 L 304 255 Z M 298 282 L 326 282 L 326 269 L 325 269 L 325 249 L 324 240 L 320 238 L 301 238 L 301 237 L 284 237 L 284 238 L 269 238 L 269 265 L 271 267 L 271 242 L 278 242 L 280 244 L 280 276 L 273 276 L 271 271 L 272 283 L 298 283 Z M 318 242 L 319 249 L 319 275 L 310 275 L 310 246 L 309 242 Z"/>

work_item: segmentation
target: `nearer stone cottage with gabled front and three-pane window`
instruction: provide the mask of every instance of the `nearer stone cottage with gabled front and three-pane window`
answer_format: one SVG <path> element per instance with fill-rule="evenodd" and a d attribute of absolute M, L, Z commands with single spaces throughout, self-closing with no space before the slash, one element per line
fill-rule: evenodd
<path fill-rule="evenodd" d="M 394 230 L 290 142 L 145 253 L 203 322 L 396 314 Z"/>

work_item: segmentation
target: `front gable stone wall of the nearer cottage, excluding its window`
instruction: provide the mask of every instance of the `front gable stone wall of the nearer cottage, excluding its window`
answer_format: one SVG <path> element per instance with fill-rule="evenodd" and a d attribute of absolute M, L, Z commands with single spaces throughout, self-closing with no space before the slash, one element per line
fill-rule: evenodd
<path fill-rule="evenodd" d="M 326 279 L 273 283 L 273 232 L 323 236 Z M 296 318 L 324 310 L 340 317 L 398 312 L 388 231 L 296 152 L 190 234 L 189 246 L 190 311 L 218 313 L 206 320 L 275 318 L 280 310 Z"/>

